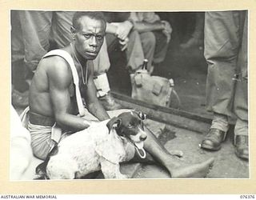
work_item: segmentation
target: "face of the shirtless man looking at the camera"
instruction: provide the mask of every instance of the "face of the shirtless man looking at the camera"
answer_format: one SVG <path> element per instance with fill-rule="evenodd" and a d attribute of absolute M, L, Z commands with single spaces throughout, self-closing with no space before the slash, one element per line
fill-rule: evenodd
<path fill-rule="evenodd" d="M 83 16 L 79 20 L 80 28 L 76 30 L 74 46 L 86 60 L 97 57 L 102 47 L 106 27 L 101 20 Z"/>

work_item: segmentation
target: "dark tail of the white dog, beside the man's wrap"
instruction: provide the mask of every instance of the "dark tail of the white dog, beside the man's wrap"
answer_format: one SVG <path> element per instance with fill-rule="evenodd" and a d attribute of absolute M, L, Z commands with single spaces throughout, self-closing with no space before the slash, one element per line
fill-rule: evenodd
<path fill-rule="evenodd" d="M 48 165 L 48 162 L 50 160 L 50 157 L 54 154 L 57 154 L 58 152 L 58 145 L 55 145 L 54 148 L 50 151 L 50 153 L 47 155 L 46 160 L 42 163 L 40 163 L 36 169 L 35 169 L 35 177 L 34 180 L 44 180 L 44 179 L 50 179 L 46 172 L 46 166 Z"/>

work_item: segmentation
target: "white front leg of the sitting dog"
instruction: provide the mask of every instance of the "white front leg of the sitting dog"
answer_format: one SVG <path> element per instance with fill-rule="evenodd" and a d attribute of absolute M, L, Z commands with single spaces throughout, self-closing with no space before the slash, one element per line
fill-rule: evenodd
<path fill-rule="evenodd" d="M 121 174 L 119 163 L 113 163 L 102 158 L 101 166 L 104 178 L 128 178 L 127 175 Z"/>

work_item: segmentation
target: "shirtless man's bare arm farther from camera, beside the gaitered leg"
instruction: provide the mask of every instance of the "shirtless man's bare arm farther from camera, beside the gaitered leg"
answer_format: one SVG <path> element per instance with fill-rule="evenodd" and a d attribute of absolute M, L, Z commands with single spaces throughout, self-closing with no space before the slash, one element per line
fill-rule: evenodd
<path fill-rule="evenodd" d="M 82 94 L 83 98 L 86 100 L 86 106 L 90 114 L 93 114 L 99 121 L 106 120 L 110 116 L 106 113 L 106 110 L 103 108 L 102 104 L 98 102 L 96 95 L 96 87 L 93 79 L 93 66 L 88 66 L 88 81 L 85 94 Z"/>

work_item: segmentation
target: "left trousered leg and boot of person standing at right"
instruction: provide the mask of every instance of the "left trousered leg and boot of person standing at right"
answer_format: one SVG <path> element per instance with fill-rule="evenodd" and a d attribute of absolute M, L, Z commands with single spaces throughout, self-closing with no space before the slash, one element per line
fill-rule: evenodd
<path fill-rule="evenodd" d="M 202 141 L 202 148 L 208 150 L 220 149 L 228 129 L 227 116 L 232 116 L 233 78 L 239 46 L 238 22 L 238 15 L 232 11 L 206 12 L 206 110 L 213 111 L 216 115 L 209 134 Z"/>

